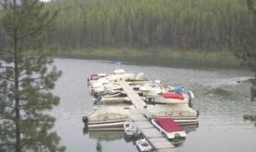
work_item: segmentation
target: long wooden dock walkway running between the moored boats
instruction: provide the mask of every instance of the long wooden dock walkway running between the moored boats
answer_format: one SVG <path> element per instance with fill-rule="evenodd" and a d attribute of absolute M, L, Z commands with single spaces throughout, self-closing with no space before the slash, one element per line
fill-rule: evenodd
<path fill-rule="evenodd" d="M 139 95 L 129 86 L 126 81 L 119 81 L 122 89 L 127 93 L 127 96 L 132 101 L 132 104 L 136 108 L 135 110 L 129 110 L 131 116 L 130 118 L 142 129 L 142 134 L 144 134 L 149 144 L 157 152 L 178 152 L 178 148 L 173 146 L 156 127 L 149 122 L 149 119 L 145 115 L 150 115 L 148 110 L 146 110 L 146 103 L 139 97 Z"/>

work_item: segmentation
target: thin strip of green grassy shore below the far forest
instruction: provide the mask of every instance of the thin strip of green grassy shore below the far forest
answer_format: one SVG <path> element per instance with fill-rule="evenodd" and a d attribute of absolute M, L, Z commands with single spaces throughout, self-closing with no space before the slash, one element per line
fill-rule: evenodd
<path fill-rule="evenodd" d="M 193 50 L 178 50 L 178 49 L 80 49 L 58 52 L 59 57 L 70 57 L 80 59 L 105 59 L 105 58 L 118 58 L 118 57 L 159 57 L 159 58 L 183 58 L 183 59 L 228 59 L 237 62 L 233 52 L 219 51 L 219 52 L 203 52 Z"/>

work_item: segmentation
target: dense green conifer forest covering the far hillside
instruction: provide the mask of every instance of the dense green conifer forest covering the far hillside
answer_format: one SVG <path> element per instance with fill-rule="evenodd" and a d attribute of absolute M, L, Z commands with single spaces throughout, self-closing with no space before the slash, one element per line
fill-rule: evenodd
<path fill-rule="evenodd" d="M 242 47 L 255 21 L 244 0 L 55 0 L 57 28 L 48 42 L 60 49 Z M 253 42 L 253 40 L 251 40 Z M 252 48 L 256 48 L 253 44 Z"/>

